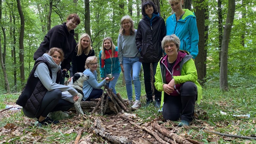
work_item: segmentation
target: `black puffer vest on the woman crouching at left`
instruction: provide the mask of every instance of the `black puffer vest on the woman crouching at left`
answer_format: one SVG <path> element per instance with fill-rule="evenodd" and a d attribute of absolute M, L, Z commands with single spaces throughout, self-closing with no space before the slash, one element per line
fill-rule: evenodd
<path fill-rule="evenodd" d="M 39 57 L 34 63 L 34 67 L 29 75 L 25 88 L 16 101 L 16 104 L 22 106 L 26 110 L 29 110 L 34 116 L 36 116 L 39 107 L 41 106 L 42 99 L 48 91 L 39 78 L 34 76 L 35 69 L 39 63 L 45 63 L 47 65 L 50 72 L 50 77 L 52 78 L 51 66 L 47 59 L 44 57 Z M 59 72 L 57 72 L 56 83 L 59 83 L 60 77 L 61 75 L 59 70 Z"/>

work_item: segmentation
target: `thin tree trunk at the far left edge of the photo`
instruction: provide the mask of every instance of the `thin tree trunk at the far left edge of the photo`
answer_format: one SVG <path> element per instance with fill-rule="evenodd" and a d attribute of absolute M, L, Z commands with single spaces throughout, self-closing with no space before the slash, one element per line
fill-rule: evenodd
<path fill-rule="evenodd" d="M 0 22 L 2 22 L 2 1 L 0 2 Z M 2 25 L 1 25 L 1 28 L 3 30 L 3 33 L 5 35 L 5 30 L 3 29 Z M 3 55 L 2 55 L 2 46 L 1 46 L 1 37 L 0 37 L 0 63 L 1 63 L 1 68 L 3 70 L 3 74 L 4 74 L 4 79 L 5 79 L 5 85 L 6 85 L 6 91 L 7 93 L 11 93 L 11 90 L 10 90 L 10 85 L 9 85 L 9 82 L 8 82 L 8 79 L 7 79 L 7 73 L 6 73 L 6 70 L 5 70 L 5 64 L 3 62 Z"/>

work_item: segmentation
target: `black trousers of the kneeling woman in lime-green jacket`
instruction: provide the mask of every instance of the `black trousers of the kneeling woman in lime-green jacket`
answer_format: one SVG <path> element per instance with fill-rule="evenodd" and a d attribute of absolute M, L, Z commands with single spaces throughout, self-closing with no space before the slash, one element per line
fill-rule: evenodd
<path fill-rule="evenodd" d="M 179 118 L 191 122 L 194 116 L 195 101 L 197 99 L 197 86 L 187 81 L 181 86 L 180 96 L 169 96 L 165 93 L 163 104 L 163 118 L 177 121 Z"/>

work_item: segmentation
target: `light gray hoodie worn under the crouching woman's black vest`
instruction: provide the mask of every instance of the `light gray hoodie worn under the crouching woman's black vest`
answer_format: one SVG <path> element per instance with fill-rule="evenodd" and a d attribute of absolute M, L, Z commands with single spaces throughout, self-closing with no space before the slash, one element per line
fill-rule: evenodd
<path fill-rule="evenodd" d="M 43 55 L 43 57 L 45 57 L 47 59 L 48 63 L 51 65 L 52 79 L 50 77 L 50 72 L 48 70 L 48 67 L 45 63 L 39 63 L 37 65 L 37 67 L 35 69 L 34 76 L 39 78 L 39 80 L 42 82 L 42 84 L 48 90 L 48 92 L 52 91 L 54 89 L 59 89 L 62 92 L 68 91 L 72 96 L 62 95 L 61 99 L 67 100 L 67 101 L 72 102 L 72 103 L 75 103 L 75 101 L 73 100 L 73 96 L 77 95 L 77 91 L 74 88 L 70 87 L 70 86 L 55 83 L 56 77 L 57 77 L 57 72 L 58 72 L 58 70 L 60 70 L 60 67 L 61 67 L 60 64 L 61 63 L 59 65 L 57 65 L 53 61 L 52 56 L 50 56 L 46 53 Z"/>

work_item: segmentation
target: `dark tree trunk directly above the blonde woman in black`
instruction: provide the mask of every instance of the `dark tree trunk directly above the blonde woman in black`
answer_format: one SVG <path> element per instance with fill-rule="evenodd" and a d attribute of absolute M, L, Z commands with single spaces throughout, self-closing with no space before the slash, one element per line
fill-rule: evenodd
<path fill-rule="evenodd" d="M 84 0 L 84 29 L 85 32 L 89 34 L 90 37 L 91 36 L 91 29 L 90 29 L 90 1 L 89 0 Z"/>

